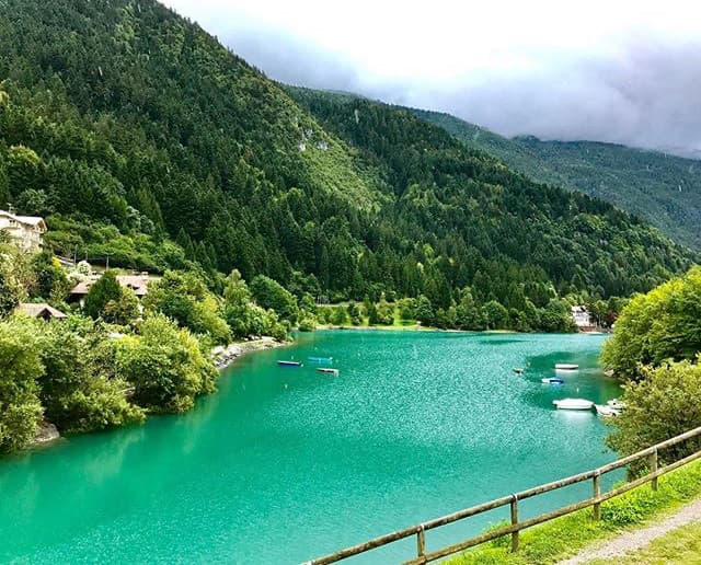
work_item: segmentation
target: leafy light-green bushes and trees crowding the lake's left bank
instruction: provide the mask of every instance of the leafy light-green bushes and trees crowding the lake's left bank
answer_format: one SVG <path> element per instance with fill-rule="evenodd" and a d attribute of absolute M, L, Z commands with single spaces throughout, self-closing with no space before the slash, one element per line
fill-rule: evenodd
<path fill-rule="evenodd" d="M 69 277 L 50 258 L 8 256 L 15 255 L 0 255 L 0 453 L 31 446 L 43 419 L 61 433 L 87 433 L 188 411 L 216 388 L 212 345 L 232 335 L 288 335 L 289 322 L 257 305 L 238 272 L 218 297 L 199 274 L 168 270 L 151 284 L 141 312 L 107 270 L 68 320 L 14 315 L 30 291 L 62 299 Z M 284 298 L 297 308 L 292 295 Z"/>

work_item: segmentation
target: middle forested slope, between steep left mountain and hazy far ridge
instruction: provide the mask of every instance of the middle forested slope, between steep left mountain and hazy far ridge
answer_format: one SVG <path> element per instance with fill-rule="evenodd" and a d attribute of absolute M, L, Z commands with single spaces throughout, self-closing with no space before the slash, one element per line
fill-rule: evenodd
<path fill-rule="evenodd" d="M 602 200 L 537 184 L 402 108 L 309 89 L 288 92 L 382 172 L 398 198 L 383 209 L 388 224 L 397 237 L 436 241 L 448 280 L 479 280 L 480 289 L 489 280 L 487 296 L 509 302 L 510 292 L 528 288 L 543 269 L 561 291 L 567 280 L 611 295 L 618 292 L 616 279 L 636 277 L 620 263 L 619 250 L 655 262 L 671 251 L 643 221 Z M 635 249 L 632 255 L 623 251 L 628 245 Z M 434 263 L 425 254 L 416 258 Z"/>

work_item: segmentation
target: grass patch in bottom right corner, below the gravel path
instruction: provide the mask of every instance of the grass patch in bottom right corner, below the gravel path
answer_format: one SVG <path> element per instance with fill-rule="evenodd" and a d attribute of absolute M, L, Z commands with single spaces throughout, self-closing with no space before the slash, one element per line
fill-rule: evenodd
<path fill-rule="evenodd" d="M 587 565 L 606 565 L 610 560 L 593 560 Z M 701 522 L 677 528 L 642 550 L 617 557 L 621 565 L 687 565 L 701 563 Z"/>

